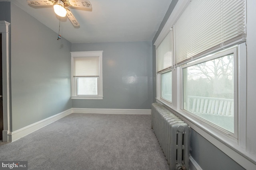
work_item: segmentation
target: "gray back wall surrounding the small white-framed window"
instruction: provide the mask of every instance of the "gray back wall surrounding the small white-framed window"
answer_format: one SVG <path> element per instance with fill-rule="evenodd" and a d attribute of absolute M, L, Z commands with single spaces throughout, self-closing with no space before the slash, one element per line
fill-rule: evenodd
<path fill-rule="evenodd" d="M 74 108 L 150 109 L 152 42 L 75 43 L 72 51 L 103 50 L 103 100 L 72 100 Z"/>

